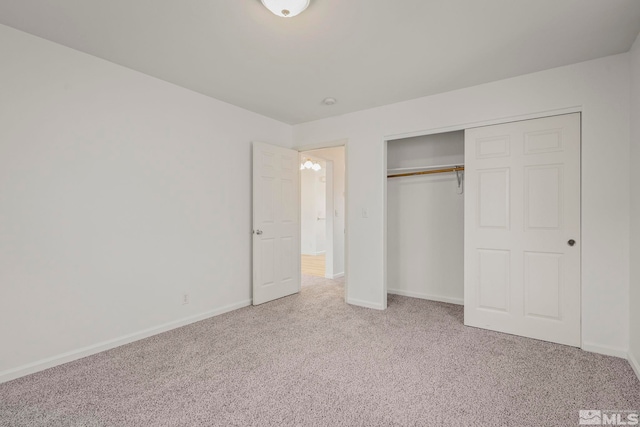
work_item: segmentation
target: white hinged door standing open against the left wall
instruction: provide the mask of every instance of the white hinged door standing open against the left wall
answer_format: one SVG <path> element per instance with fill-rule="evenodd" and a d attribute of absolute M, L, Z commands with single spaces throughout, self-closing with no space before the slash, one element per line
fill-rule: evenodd
<path fill-rule="evenodd" d="M 300 291 L 298 152 L 253 143 L 253 305 Z"/>

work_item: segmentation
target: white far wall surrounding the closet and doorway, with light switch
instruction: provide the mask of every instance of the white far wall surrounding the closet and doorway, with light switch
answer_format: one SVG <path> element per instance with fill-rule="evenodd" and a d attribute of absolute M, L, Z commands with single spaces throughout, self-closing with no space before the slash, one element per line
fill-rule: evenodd
<path fill-rule="evenodd" d="M 348 139 L 347 300 L 386 306 L 386 137 L 579 110 L 583 348 L 626 356 L 629 81 L 629 55 L 621 54 L 294 126 L 300 147 Z"/>

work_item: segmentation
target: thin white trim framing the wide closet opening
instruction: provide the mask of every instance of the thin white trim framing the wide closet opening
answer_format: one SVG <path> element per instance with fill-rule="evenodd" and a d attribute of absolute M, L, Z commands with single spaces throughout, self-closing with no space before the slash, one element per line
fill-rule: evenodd
<path fill-rule="evenodd" d="M 383 159 L 382 159 L 382 169 L 380 171 L 379 176 L 383 179 L 383 182 L 384 182 L 384 185 L 382 188 L 382 202 L 384 206 L 384 209 L 382 210 L 382 222 L 384 224 L 383 225 L 384 230 L 382 235 L 382 240 L 383 240 L 382 247 L 383 247 L 383 258 L 384 258 L 383 265 L 382 265 L 382 272 L 383 272 L 382 281 L 383 281 L 384 295 L 383 295 L 382 303 L 385 309 L 387 308 L 387 147 L 388 147 L 389 141 L 393 141 L 396 139 L 412 138 L 416 136 L 427 136 L 427 135 L 434 135 L 438 133 L 460 131 L 460 130 L 480 127 L 480 126 L 490 126 L 490 125 L 498 125 L 498 124 L 504 124 L 504 123 L 510 123 L 510 122 L 517 122 L 521 120 L 540 119 L 543 117 L 559 116 L 561 114 L 570 114 L 570 113 L 582 113 L 582 107 L 574 106 L 574 107 L 561 108 L 557 110 L 540 111 L 536 113 L 519 115 L 519 116 L 501 117 L 501 118 L 496 118 L 491 120 L 482 120 L 478 122 L 460 123 L 456 125 L 425 129 L 425 130 L 420 130 L 415 132 L 390 134 L 390 135 L 385 135 L 382 138 Z M 582 129 L 581 129 L 581 133 L 582 133 Z M 582 150 L 580 150 L 580 163 L 582 164 Z M 580 177 L 580 188 L 582 188 L 582 176 Z M 582 213 L 582 201 L 580 204 L 580 212 Z M 584 277 L 584 271 L 582 271 L 583 265 L 584 265 L 584 263 L 582 262 L 583 253 L 584 252 L 581 252 L 580 254 L 580 265 L 581 265 L 580 295 L 581 297 L 582 295 L 584 295 L 584 290 L 582 289 L 582 286 L 583 286 L 582 277 Z M 584 323 L 584 313 L 585 313 L 585 310 L 584 310 L 583 302 L 581 299 L 580 300 L 580 317 L 581 317 L 581 320 L 583 321 L 582 323 Z M 582 340 L 582 331 L 580 332 L 580 339 Z"/>

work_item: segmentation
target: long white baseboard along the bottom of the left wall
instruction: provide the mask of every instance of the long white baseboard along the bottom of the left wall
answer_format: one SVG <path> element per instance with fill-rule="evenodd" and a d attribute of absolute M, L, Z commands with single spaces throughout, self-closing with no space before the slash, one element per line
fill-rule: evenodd
<path fill-rule="evenodd" d="M 237 310 L 239 308 L 247 307 L 251 305 L 251 300 L 242 301 L 236 304 L 230 304 L 224 307 L 220 307 L 214 310 L 207 311 L 205 313 L 196 314 L 193 316 L 185 317 L 173 322 L 164 323 L 159 326 L 144 329 L 139 332 L 124 335 L 119 338 L 115 338 L 108 341 L 103 341 L 94 345 L 90 345 L 77 350 L 68 351 L 53 357 L 38 360 L 37 362 L 28 363 L 26 365 L 18 366 L 17 368 L 8 369 L 0 372 L 0 384 L 14 380 L 16 378 L 24 377 L 25 375 L 33 374 L 45 369 L 53 368 L 54 366 L 62 365 L 64 363 L 72 362 L 74 360 L 82 359 L 83 357 L 91 356 L 92 354 L 100 353 L 102 351 L 110 350 L 115 347 L 120 347 L 124 344 L 129 344 L 134 341 L 141 340 L 153 335 L 167 332 L 172 329 L 186 326 L 190 323 L 199 322 L 200 320 L 208 319 L 210 317 L 218 316 L 220 314 L 227 313 L 229 311 Z"/>

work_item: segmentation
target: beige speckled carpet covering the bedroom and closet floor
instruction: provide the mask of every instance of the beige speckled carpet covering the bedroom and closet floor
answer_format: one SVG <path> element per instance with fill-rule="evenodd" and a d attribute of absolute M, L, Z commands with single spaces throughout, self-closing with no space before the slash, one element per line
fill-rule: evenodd
<path fill-rule="evenodd" d="M 340 282 L 0 385 L 2 426 L 577 426 L 640 409 L 622 359 L 462 324 L 462 307 Z M 6 349 L 5 349 L 6 350 Z"/>

